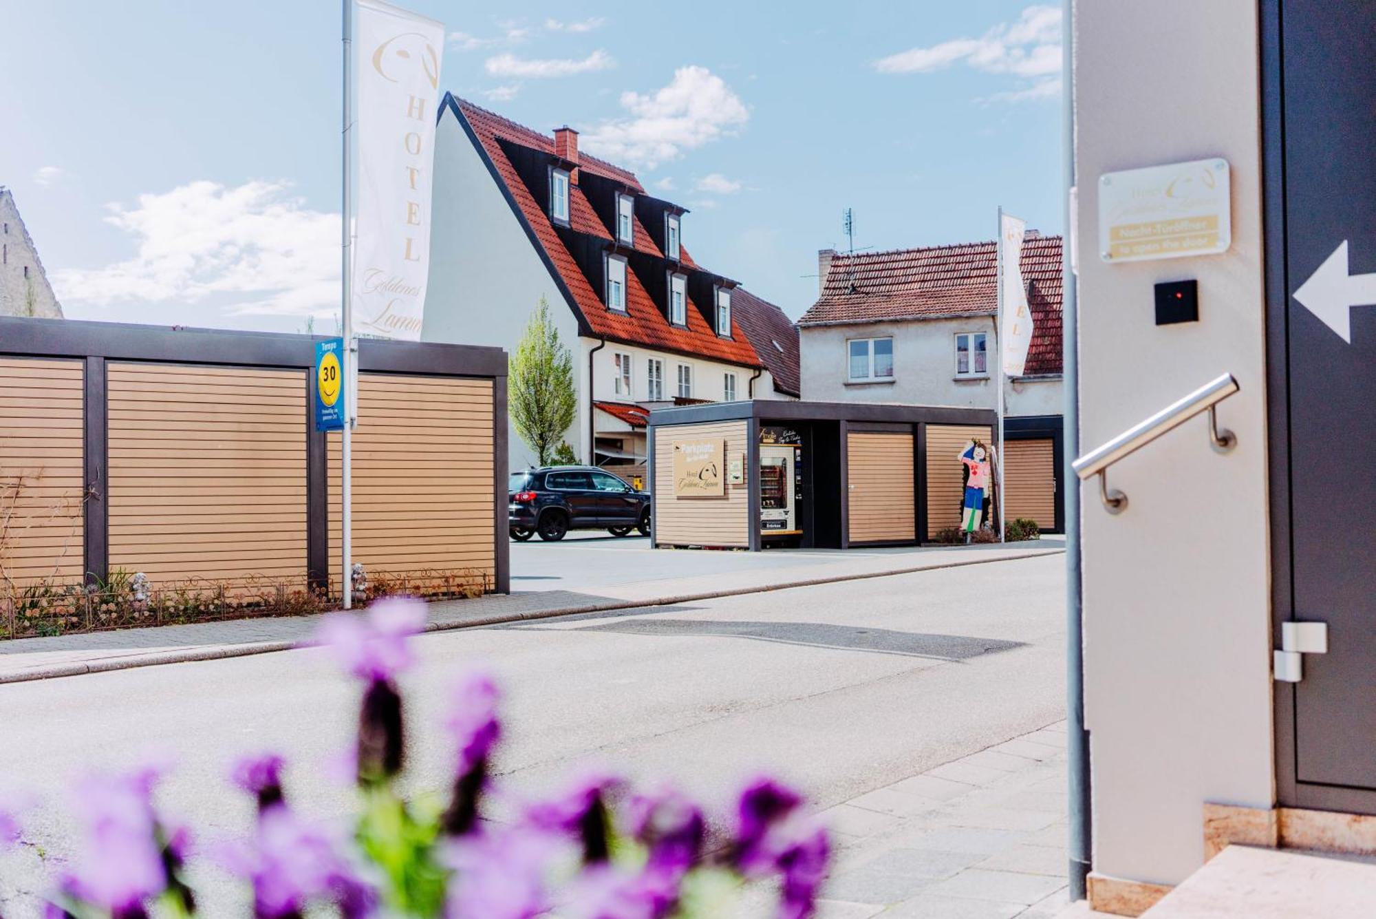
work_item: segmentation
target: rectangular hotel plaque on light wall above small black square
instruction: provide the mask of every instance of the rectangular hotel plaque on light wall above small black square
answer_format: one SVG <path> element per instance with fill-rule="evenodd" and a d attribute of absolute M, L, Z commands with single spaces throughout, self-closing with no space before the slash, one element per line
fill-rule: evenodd
<path fill-rule="evenodd" d="M 1108 263 L 1227 252 L 1227 160 L 1194 160 L 1099 176 L 1099 259 Z"/>

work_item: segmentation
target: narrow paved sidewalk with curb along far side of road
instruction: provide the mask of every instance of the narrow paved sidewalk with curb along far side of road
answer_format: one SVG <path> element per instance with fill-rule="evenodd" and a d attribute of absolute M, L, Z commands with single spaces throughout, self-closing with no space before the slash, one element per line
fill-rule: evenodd
<path fill-rule="evenodd" d="M 1064 552 L 1064 542 L 1057 538 L 1009 548 L 998 545 L 915 548 L 853 556 L 838 552 L 797 552 L 797 564 L 787 567 L 779 567 L 775 559 L 771 567 L 636 581 L 611 585 L 597 593 L 544 590 L 435 603 L 429 607 L 428 629 L 462 629 L 627 607 L 688 603 L 1060 552 Z M 319 616 L 282 616 L 0 641 L 0 684 L 285 651 L 307 642 L 318 625 Z"/>

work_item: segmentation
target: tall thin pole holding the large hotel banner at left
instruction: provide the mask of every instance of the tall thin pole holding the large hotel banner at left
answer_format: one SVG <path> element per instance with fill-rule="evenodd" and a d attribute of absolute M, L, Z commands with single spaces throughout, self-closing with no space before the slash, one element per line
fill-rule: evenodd
<path fill-rule="evenodd" d="M 344 3 L 344 116 L 343 116 L 343 154 L 344 154 L 344 175 L 340 183 L 340 198 L 341 198 L 341 228 L 340 228 L 340 248 L 343 252 L 340 260 L 340 268 L 343 271 L 343 285 L 341 285 L 341 311 L 343 311 L 343 336 L 344 336 L 344 358 L 341 376 L 344 377 L 344 429 L 340 431 L 340 574 L 343 581 L 340 582 L 344 608 L 350 609 L 354 605 L 354 422 L 355 422 L 355 406 L 358 400 L 355 398 L 354 389 L 358 385 L 356 378 L 356 360 L 358 360 L 358 344 L 354 341 L 354 311 L 352 311 L 352 252 L 351 252 L 351 235 L 352 227 L 352 194 L 351 194 L 351 162 L 350 162 L 350 140 L 352 139 L 352 96 L 354 96 L 354 0 L 343 0 Z"/>

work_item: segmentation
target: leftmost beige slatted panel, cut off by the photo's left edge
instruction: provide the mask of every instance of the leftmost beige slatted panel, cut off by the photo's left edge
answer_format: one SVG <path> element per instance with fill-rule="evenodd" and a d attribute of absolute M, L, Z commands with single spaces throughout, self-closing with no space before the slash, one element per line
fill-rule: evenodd
<path fill-rule="evenodd" d="M 0 358 L 0 593 L 83 576 L 81 360 Z"/>

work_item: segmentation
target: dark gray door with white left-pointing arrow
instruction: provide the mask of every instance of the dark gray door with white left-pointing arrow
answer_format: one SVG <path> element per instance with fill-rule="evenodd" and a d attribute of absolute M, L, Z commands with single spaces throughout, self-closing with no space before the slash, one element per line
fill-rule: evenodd
<path fill-rule="evenodd" d="M 1288 367 L 1285 455 L 1273 458 L 1288 477 L 1291 557 L 1277 616 L 1326 622 L 1329 648 L 1280 691 L 1293 696 L 1278 775 L 1292 770 L 1302 802 L 1369 810 L 1358 791 L 1376 790 L 1376 3 L 1284 0 L 1271 15 L 1263 59 L 1280 63 L 1266 85 L 1281 107 L 1269 102 L 1267 221 L 1280 205 Z"/>

